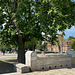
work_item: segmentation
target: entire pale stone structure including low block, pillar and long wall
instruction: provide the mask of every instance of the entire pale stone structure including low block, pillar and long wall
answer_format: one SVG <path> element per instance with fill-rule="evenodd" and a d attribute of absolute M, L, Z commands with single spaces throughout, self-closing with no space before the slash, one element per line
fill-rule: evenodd
<path fill-rule="evenodd" d="M 37 55 L 34 51 L 26 52 L 26 64 L 16 64 L 17 72 L 49 70 L 75 66 L 75 51 L 67 51 L 64 55 Z"/>

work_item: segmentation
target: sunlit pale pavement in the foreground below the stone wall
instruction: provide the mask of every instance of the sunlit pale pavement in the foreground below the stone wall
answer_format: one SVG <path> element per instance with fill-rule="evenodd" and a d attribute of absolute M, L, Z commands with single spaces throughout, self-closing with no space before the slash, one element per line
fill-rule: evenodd
<path fill-rule="evenodd" d="M 53 69 L 48 71 L 34 71 L 24 74 L 8 73 L 1 75 L 75 75 L 75 68 Z"/>

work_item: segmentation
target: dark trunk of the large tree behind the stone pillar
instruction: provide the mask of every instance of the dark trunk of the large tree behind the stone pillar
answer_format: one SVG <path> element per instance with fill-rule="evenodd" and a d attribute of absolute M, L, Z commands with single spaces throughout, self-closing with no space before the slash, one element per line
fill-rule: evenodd
<path fill-rule="evenodd" d="M 17 6 L 18 6 L 18 3 L 21 2 L 21 0 L 17 1 L 17 0 L 14 0 L 14 13 L 16 12 L 17 10 Z M 17 19 L 20 15 L 16 14 L 14 15 L 13 18 Z M 14 22 L 14 21 L 13 21 Z M 25 48 L 24 48 L 24 40 L 22 38 L 22 35 L 20 34 L 20 24 L 16 24 L 16 22 L 14 22 L 15 25 L 17 25 L 17 30 L 18 30 L 18 63 L 23 63 L 25 64 Z"/>

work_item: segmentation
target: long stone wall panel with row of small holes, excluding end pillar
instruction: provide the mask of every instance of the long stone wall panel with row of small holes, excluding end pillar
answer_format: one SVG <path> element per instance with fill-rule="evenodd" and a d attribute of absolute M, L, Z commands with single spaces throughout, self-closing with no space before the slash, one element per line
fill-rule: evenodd
<path fill-rule="evenodd" d="M 71 67 L 71 56 L 54 55 L 54 56 L 37 57 L 36 63 L 37 63 L 36 70 Z"/>

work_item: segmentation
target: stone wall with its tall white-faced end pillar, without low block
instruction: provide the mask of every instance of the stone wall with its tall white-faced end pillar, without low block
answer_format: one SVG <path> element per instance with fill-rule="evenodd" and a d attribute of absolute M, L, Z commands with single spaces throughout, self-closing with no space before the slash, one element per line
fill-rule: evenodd
<path fill-rule="evenodd" d="M 52 68 L 71 67 L 75 64 L 71 55 L 41 55 L 33 51 L 26 52 L 26 65 L 31 67 L 31 70 L 46 70 Z"/>

